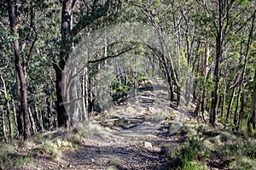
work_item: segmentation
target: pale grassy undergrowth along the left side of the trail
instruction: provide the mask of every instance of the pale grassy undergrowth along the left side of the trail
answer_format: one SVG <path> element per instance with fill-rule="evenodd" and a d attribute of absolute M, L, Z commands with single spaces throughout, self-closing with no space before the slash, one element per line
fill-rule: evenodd
<path fill-rule="evenodd" d="M 14 140 L 11 144 L 0 144 L 0 169 L 31 164 L 33 158 L 44 156 L 49 160 L 59 161 L 66 149 L 79 147 L 81 139 L 89 137 L 111 138 L 108 127 L 89 123 L 70 130 L 57 129 L 53 132 L 37 133 L 26 141 Z M 113 161 L 113 166 L 116 166 Z"/>

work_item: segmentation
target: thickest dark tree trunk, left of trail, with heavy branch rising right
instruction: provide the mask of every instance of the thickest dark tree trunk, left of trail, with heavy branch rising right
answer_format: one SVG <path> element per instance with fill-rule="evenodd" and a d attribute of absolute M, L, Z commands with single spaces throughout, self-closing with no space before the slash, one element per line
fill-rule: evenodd
<path fill-rule="evenodd" d="M 96 1 L 95 1 L 96 2 Z M 95 20 L 98 20 L 108 13 L 111 3 L 113 1 L 106 1 L 104 5 L 98 6 L 93 3 L 91 11 L 82 16 L 76 26 L 72 26 L 73 18 L 73 6 L 76 0 L 64 0 L 62 3 L 61 12 L 61 52 L 58 65 L 54 65 L 56 81 L 56 107 L 57 107 L 57 118 L 59 127 L 69 127 L 69 116 L 65 110 L 63 103 L 63 84 L 65 80 L 62 80 L 63 70 L 71 52 L 73 37 L 77 36 L 86 26 L 90 26 Z M 72 28 L 73 27 L 73 28 Z"/>

